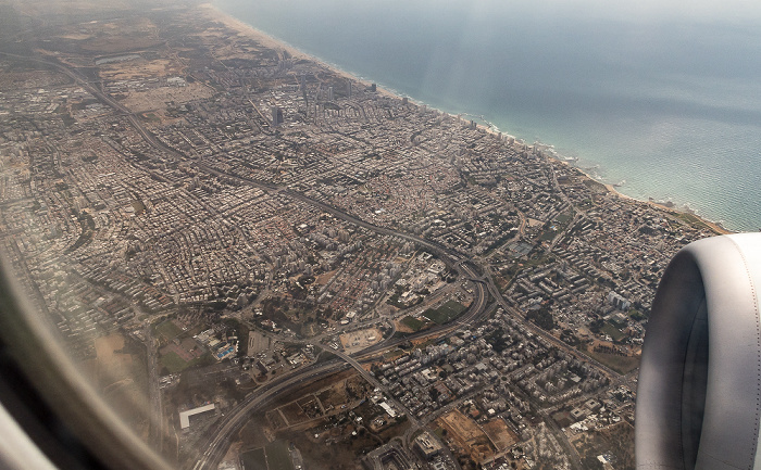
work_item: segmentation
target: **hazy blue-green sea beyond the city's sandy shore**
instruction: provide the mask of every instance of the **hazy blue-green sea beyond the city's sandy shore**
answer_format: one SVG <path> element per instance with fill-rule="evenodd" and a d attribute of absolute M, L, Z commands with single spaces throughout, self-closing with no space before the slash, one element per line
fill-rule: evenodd
<path fill-rule="evenodd" d="M 626 195 L 758 231 L 761 14 L 669 2 L 213 4 L 397 94 L 551 145 Z"/>

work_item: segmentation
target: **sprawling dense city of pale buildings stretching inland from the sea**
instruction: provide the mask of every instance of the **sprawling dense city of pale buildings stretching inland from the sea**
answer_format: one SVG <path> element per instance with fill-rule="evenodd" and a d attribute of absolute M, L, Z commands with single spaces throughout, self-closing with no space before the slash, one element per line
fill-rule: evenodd
<path fill-rule="evenodd" d="M 210 5 L 112 8 L 9 10 L 0 245 L 169 462 L 634 468 L 656 288 L 721 227 Z"/>

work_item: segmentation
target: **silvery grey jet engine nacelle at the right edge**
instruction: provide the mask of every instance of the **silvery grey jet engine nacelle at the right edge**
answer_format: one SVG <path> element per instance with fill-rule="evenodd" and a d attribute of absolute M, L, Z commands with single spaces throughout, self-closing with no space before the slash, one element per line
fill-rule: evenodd
<path fill-rule="evenodd" d="M 645 336 L 637 469 L 761 469 L 761 233 L 699 240 L 671 261 Z"/>

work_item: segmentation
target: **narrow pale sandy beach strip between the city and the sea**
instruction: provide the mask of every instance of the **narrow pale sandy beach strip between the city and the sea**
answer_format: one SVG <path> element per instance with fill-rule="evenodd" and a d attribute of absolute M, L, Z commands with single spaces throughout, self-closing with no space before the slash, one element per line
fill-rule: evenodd
<path fill-rule="evenodd" d="M 296 48 L 296 47 L 294 47 L 294 46 L 291 46 L 291 45 L 289 45 L 280 39 L 274 38 L 274 37 L 270 36 L 269 34 L 262 31 L 261 29 L 258 29 L 258 28 L 249 25 L 248 23 L 245 23 L 245 22 L 229 15 L 228 13 L 220 10 L 213 3 L 201 3 L 198 5 L 198 8 L 201 9 L 201 11 L 205 12 L 205 14 L 208 14 L 212 20 L 224 24 L 226 27 L 228 27 L 232 30 L 237 31 L 239 35 L 248 36 L 248 37 L 254 39 L 255 41 L 260 42 L 262 46 L 264 46 L 266 48 L 285 50 L 292 58 L 309 60 L 311 62 L 319 64 L 320 66 L 325 67 L 326 69 L 329 69 L 330 72 L 335 73 L 338 76 L 341 76 L 341 77 L 350 79 L 352 81 L 362 84 L 362 85 L 367 86 L 367 87 L 371 85 L 371 81 L 361 79 L 361 78 L 357 77 L 355 75 L 339 68 L 338 66 L 330 65 L 330 64 L 320 60 L 319 58 L 315 58 L 314 55 L 305 53 L 305 52 L 299 50 L 298 48 Z M 417 106 L 421 106 L 421 105 L 428 106 L 425 103 L 422 103 L 422 102 L 419 102 L 419 101 L 412 99 L 411 97 L 402 97 L 402 96 L 397 94 L 395 92 L 391 92 L 391 91 L 389 91 L 380 86 L 377 87 L 377 92 L 380 94 L 384 94 L 386 97 L 395 98 L 395 99 L 399 99 L 399 100 L 401 100 L 402 98 L 407 98 L 410 102 L 414 103 Z M 449 115 L 452 118 L 463 120 L 464 123 L 469 122 L 469 119 L 463 118 L 461 114 L 448 113 L 448 112 L 445 112 L 445 111 L 441 111 L 441 110 L 438 110 L 438 109 L 432 107 L 432 106 L 428 106 L 428 107 L 432 110 L 438 111 L 440 113 L 444 113 L 446 115 Z M 483 129 L 484 131 L 486 131 L 488 134 L 495 135 L 495 136 L 498 134 L 501 134 L 506 138 L 512 138 L 515 140 L 516 143 L 519 141 L 523 142 L 523 139 L 521 139 L 520 137 L 512 136 L 508 132 L 495 130 L 491 127 L 484 125 L 484 124 L 476 124 L 476 127 L 479 129 Z M 582 168 L 574 166 L 574 165 L 571 165 L 570 162 L 567 162 L 563 158 L 560 158 L 558 155 L 552 155 L 551 153 L 548 154 L 544 151 L 541 153 L 544 156 L 546 156 L 548 158 L 553 158 L 557 162 L 560 162 L 564 165 L 569 165 L 570 167 L 576 168 L 586 178 L 589 178 L 591 181 L 595 181 L 595 182 L 602 185 L 608 190 L 609 193 L 611 193 L 617 198 L 643 203 L 643 204 L 647 204 L 653 208 L 658 208 L 660 211 L 663 211 L 663 212 L 666 212 L 670 214 L 689 214 L 689 215 L 696 217 L 700 223 L 704 224 L 707 227 L 709 227 L 711 230 L 713 230 L 718 234 L 735 233 L 734 231 L 728 230 L 728 229 L 720 226 L 719 224 L 716 224 L 712 220 L 706 219 L 704 217 L 701 217 L 700 215 L 695 214 L 693 212 L 679 211 L 677 208 L 669 207 L 664 204 L 661 204 L 661 203 L 658 203 L 654 201 L 644 201 L 644 200 L 639 200 L 639 199 L 626 195 L 626 194 L 620 192 L 613 185 L 603 183 L 601 181 L 598 181 L 591 175 L 584 172 Z"/>

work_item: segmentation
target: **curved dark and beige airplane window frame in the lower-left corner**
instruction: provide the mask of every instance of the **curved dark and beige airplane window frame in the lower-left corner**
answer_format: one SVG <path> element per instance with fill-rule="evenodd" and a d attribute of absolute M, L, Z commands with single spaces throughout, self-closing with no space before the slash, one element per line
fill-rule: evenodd
<path fill-rule="evenodd" d="M 0 253 L 0 405 L 58 468 L 169 470 L 33 315 L 9 266 Z"/>

